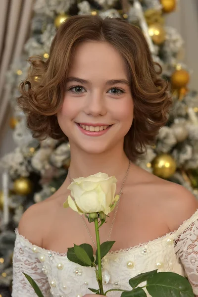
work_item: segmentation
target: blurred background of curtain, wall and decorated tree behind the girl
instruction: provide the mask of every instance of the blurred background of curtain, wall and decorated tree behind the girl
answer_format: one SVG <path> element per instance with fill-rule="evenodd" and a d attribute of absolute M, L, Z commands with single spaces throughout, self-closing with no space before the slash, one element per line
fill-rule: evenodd
<path fill-rule="evenodd" d="M 156 143 L 137 163 L 198 198 L 198 0 L 1 0 L 0 297 L 11 296 L 21 215 L 59 188 L 70 164 L 68 143 L 32 138 L 16 105 L 19 82 L 27 75 L 27 58 L 47 61 L 57 28 L 75 14 L 124 18 L 144 32 L 171 83 L 173 106 Z"/>

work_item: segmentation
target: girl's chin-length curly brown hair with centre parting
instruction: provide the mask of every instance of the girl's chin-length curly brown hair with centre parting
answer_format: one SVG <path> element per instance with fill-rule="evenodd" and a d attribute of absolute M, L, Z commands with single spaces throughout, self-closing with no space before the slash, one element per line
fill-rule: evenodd
<path fill-rule="evenodd" d="M 134 161 L 147 145 L 154 143 L 158 130 L 167 122 L 171 98 L 167 92 L 169 84 L 158 76 L 161 66 L 153 62 L 142 31 L 126 20 L 71 16 L 57 29 L 48 60 L 45 62 L 42 57 L 28 59 L 29 75 L 20 84 L 22 95 L 17 98 L 27 115 L 27 126 L 33 131 L 33 137 L 40 140 L 47 137 L 68 140 L 58 125 L 56 113 L 62 106 L 74 49 L 83 41 L 110 43 L 127 65 L 134 120 L 125 136 L 124 150 Z M 160 68 L 158 72 L 156 65 Z"/>

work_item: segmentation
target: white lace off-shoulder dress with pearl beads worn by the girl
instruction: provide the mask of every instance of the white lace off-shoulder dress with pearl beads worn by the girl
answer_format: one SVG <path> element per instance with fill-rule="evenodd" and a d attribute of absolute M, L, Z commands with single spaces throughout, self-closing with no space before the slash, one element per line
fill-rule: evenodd
<path fill-rule="evenodd" d="M 105 291 L 130 290 L 130 278 L 157 268 L 188 276 L 198 295 L 198 210 L 177 231 L 146 244 L 109 252 L 102 266 Z M 16 229 L 12 297 L 36 297 L 22 272 L 36 281 L 45 297 L 81 297 L 91 293 L 88 287 L 98 288 L 94 268 L 73 263 L 66 254 L 34 246 Z M 121 292 L 107 296 L 120 297 Z"/>

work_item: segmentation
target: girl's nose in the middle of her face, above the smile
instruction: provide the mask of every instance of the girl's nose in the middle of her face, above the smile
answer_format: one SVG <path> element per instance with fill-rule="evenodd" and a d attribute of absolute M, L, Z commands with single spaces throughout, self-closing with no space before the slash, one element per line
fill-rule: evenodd
<path fill-rule="evenodd" d="M 105 98 L 103 98 L 99 90 L 91 92 L 90 95 L 87 96 L 84 111 L 86 114 L 93 116 L 106 114 Z"/>

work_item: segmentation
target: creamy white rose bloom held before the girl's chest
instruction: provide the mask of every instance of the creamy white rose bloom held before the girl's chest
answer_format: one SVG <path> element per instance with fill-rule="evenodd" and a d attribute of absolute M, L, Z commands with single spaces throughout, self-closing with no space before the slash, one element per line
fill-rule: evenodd
<path fill-rule="evenodd" d="M 79 214 L 103 212 L 105 215 L 113 210 L 119 196 L 115 196 L 117 179 L 105 173 L 73 179 L 68 189 L 71 196 L 63 204 Z"/>

